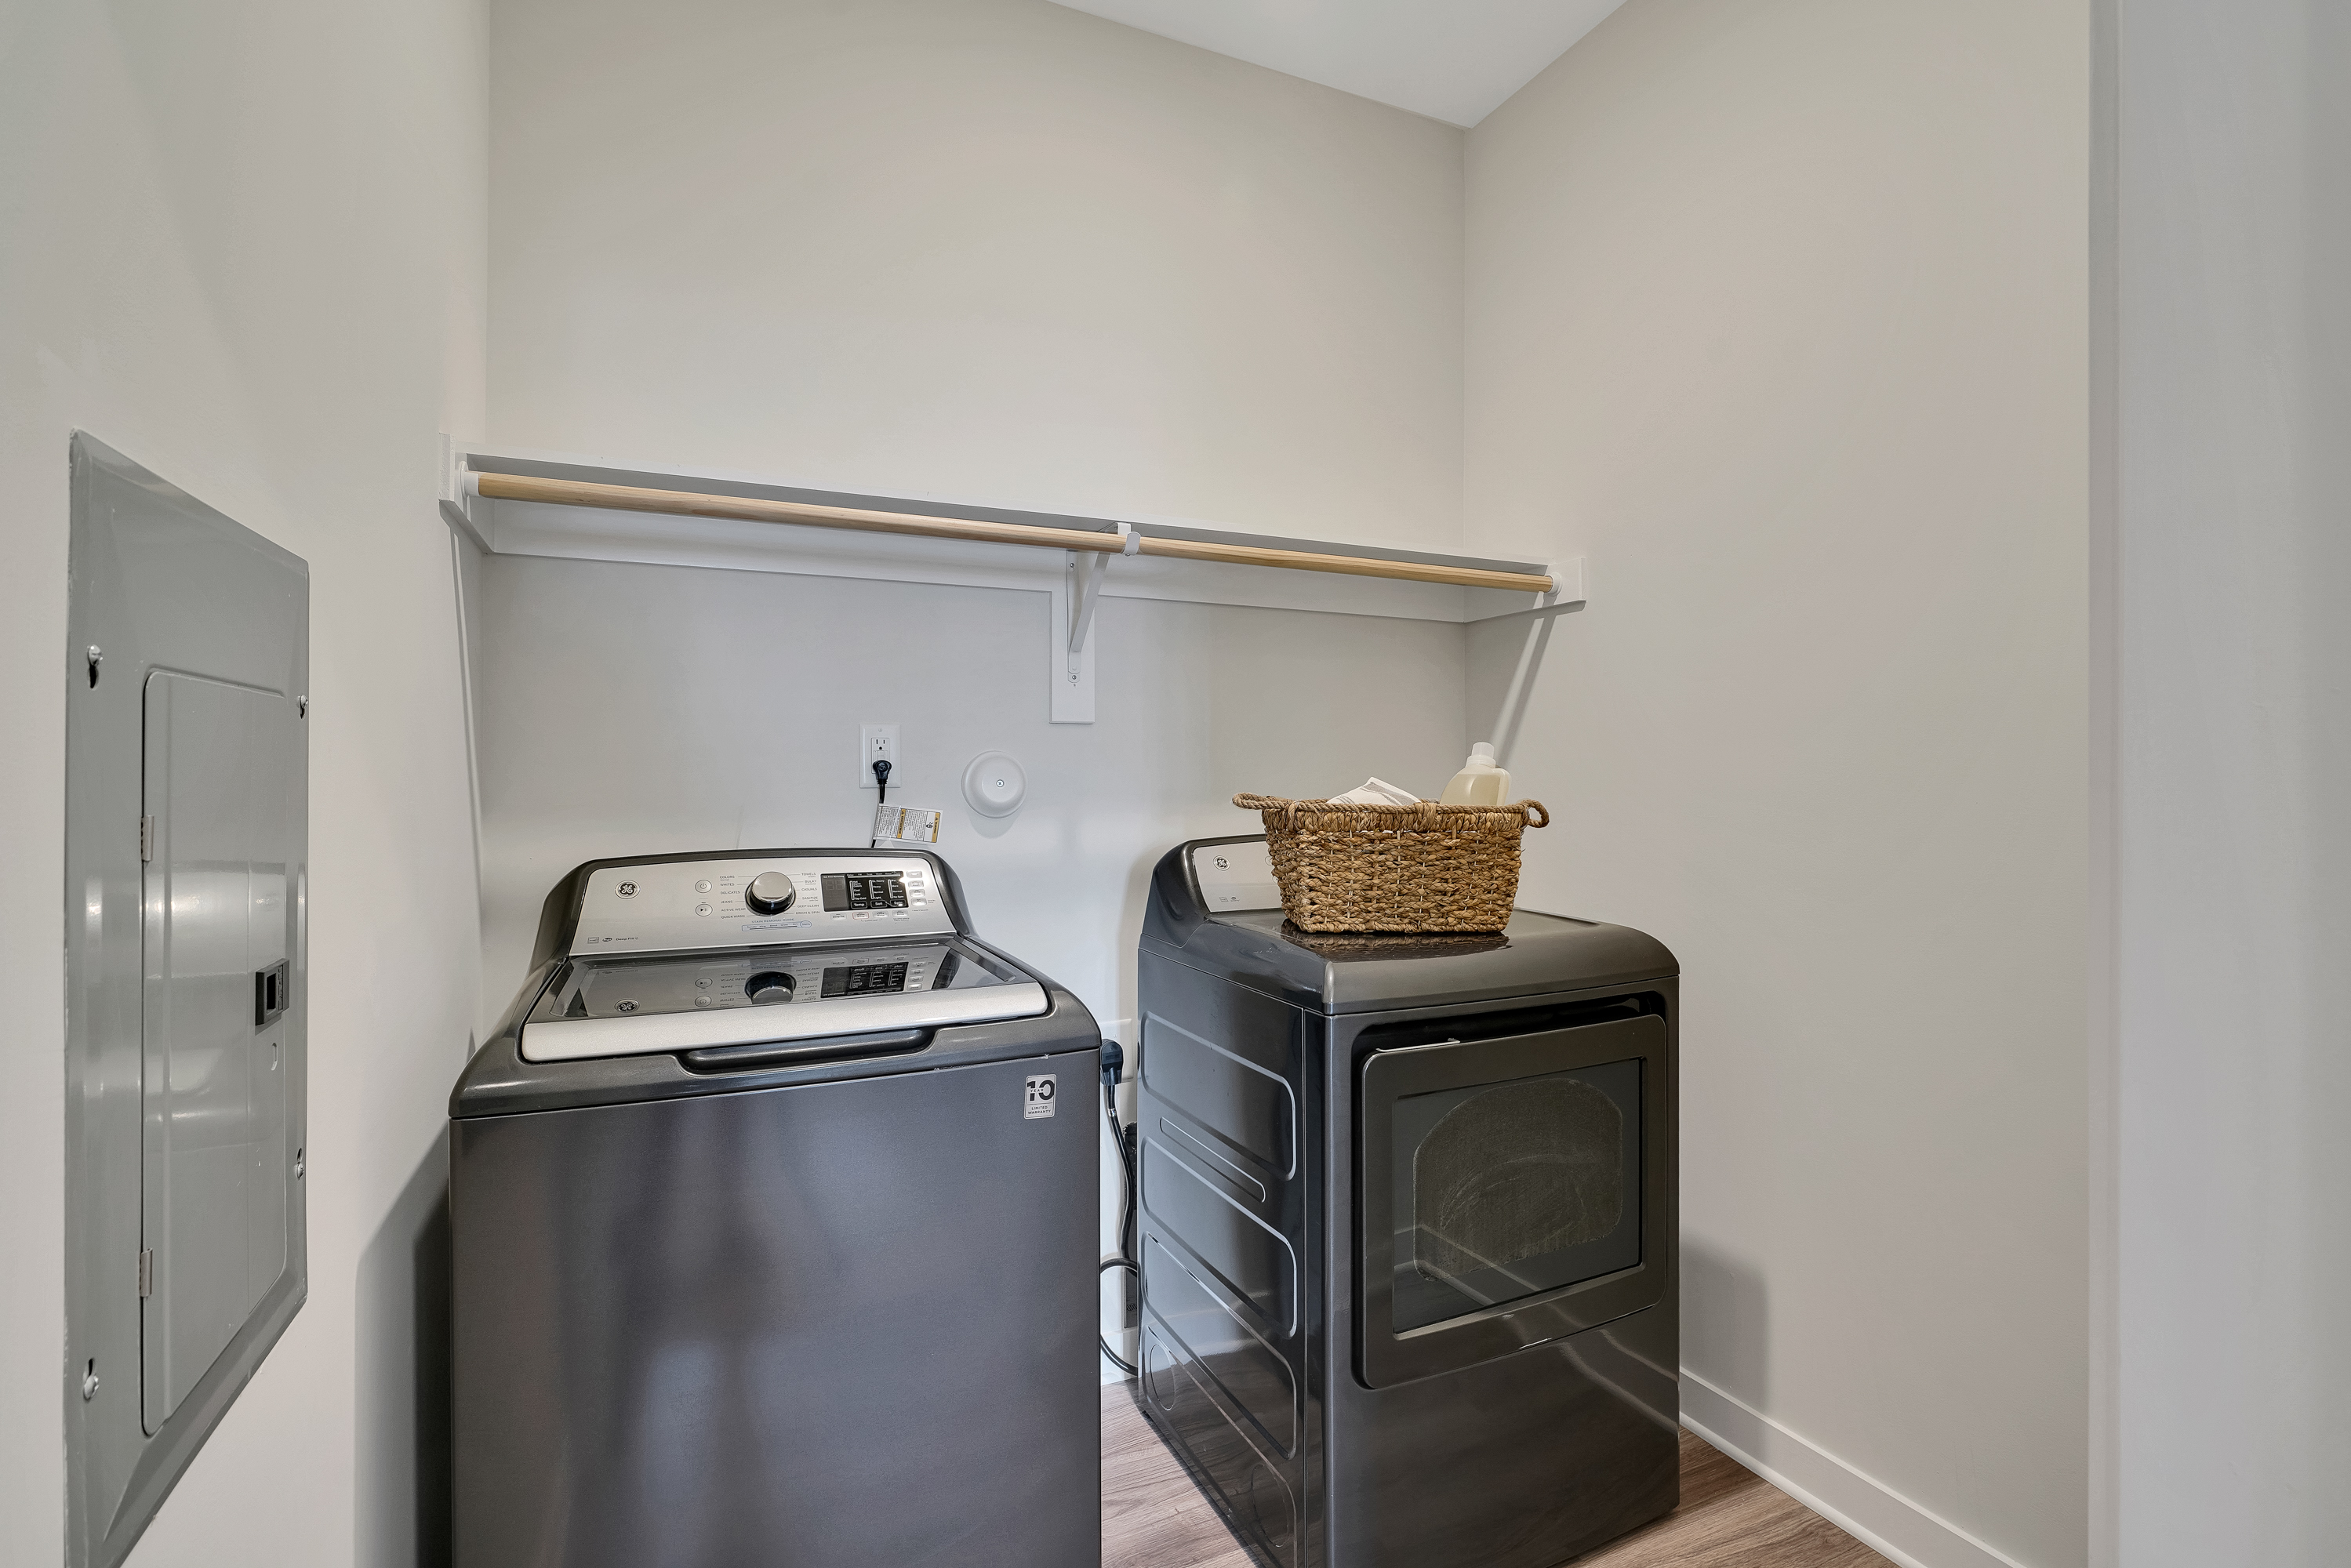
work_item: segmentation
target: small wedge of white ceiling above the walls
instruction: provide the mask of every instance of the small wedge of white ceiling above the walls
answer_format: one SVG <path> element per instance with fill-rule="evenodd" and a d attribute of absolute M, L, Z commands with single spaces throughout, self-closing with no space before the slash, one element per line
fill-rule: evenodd
<path fill-rule="evenodd" d="M 1625 0 L 1056 0 L 1145 33 L 1476 125 Z"/>

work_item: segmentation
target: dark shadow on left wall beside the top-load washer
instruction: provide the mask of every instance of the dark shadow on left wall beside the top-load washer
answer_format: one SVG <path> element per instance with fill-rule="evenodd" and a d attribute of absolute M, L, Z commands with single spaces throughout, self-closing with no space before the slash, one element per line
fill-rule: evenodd
<path fill-rule="evenodd" d="M 360 1568 L 449 1563 L 449 1131 L 360 1253 Z"/>

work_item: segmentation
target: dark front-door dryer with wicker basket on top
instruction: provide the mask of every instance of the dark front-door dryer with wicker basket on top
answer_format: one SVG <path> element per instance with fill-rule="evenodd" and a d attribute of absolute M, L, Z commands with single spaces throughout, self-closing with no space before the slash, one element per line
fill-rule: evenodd
<path fill-rule="evenodd" d="M 1288 926 L 1159 860 L 1136 1399 L 1260 1563 L 1552 1568 L 1679 1497 L 1674 954 Z"/>

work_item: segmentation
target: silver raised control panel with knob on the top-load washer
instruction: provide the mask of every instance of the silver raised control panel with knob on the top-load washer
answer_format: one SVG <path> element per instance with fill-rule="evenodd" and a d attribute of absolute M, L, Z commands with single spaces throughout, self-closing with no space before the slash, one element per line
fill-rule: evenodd
<path fill-rule="evenodd" d="M 952 936 L 919 856 L 743 856 L 588 875 L 571 954 Z"/>

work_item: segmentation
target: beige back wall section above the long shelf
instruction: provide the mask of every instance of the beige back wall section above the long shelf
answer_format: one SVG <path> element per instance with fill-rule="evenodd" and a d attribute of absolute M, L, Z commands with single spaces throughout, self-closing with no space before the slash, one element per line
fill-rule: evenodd
<path fill-rule="evenodd" d="M 1044 0 L 501 0 L 491 433 L 1460 522 L 1462 134 Z"/>

